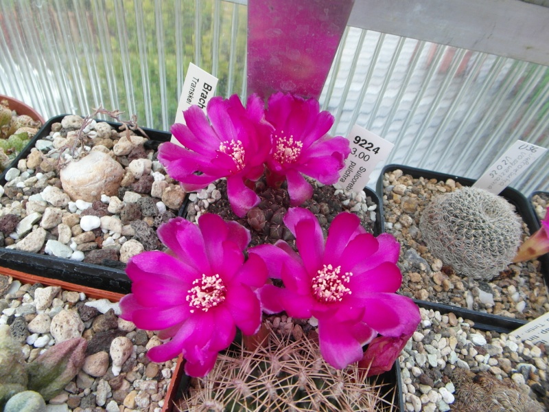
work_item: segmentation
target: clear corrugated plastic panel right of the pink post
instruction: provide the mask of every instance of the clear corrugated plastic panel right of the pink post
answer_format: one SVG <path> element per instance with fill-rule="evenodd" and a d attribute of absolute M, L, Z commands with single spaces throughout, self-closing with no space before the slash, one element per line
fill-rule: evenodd
<path fill-rule="evenodd" d="M 517 139 L 549 148 L 549 68 L 510 58 L 348 27 L 323 99 L 332 133 L 395 144 L 386 163 L 476 179 Z M 546 155 L 512 186 L 548 190 L 548 170 Z"/>

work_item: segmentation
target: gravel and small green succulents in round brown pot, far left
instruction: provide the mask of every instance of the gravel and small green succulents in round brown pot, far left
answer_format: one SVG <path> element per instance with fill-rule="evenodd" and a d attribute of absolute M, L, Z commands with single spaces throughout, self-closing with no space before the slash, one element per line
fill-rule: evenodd
<path fill-rule="evenodd" d="M 27 115 L 17 115 L 8 107 L 8 102 L 0 102 L 0 170 L 10 165 L 17 153 L 21 152 L 42 126 Z"/>

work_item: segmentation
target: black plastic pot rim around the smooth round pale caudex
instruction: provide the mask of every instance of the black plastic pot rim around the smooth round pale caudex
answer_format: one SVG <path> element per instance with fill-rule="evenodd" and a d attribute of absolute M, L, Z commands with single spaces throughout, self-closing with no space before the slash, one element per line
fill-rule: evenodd
<path fill-rule="evenodd" d="M 51 125 L 61 122 L 65 115 L 52 117 L 36 133 L 29 145 L 16 157 L 14 165 L 17 165 L 20 159 L 26 159 L 30 150 L 34 148 L 36 141 L 49 135 Z M 101 120 L 97 120 L 101 122 Z M 118 123 L 108 122 L 110 126 L 118 128 Z M 167 132 L 143 128 L 152 141 L 159 143 L 170 141 L 172 135 Z M 5 172 L 0 175 L 0 185 L 4 185 Z M 183 206 L 184 207 L 184 206 Z M 183 207 L 181 209 L 183 209 Z M 120 262 L 118 262 L 120 264 Z M 123 264 L 121 264 L 123 265 Z M 65 282 L 71 282 L 82 286 L 109 290 L 117 293 L 129 293 L 131 282 L 124 268 L 100 266 L 84 262 L 75 262 L 73 260 L 56 258 L 49 255 L 40 255 L 37 253 L 28 253 L 16 251 L 13 249 L 0 248 L 0 266 L 10 268 L 16 271 L 30 273 L 31 275 L 40 275 L 52 279 L 58 279 Z M 125 266 L 125 265 L 124 265 Z"/>

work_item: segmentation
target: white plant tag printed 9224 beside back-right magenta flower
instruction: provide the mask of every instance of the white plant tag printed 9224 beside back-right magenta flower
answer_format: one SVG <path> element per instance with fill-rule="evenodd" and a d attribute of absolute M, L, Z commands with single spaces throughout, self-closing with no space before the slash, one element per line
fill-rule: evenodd
<path fill-rule="evenodd" d="M 356 124 L 347 139 L 351 154 L 345 161 L 338 186 L 344 190 L 360 192 L 364 190 L 377 163 L 387 159 L 395 145 Z"/>

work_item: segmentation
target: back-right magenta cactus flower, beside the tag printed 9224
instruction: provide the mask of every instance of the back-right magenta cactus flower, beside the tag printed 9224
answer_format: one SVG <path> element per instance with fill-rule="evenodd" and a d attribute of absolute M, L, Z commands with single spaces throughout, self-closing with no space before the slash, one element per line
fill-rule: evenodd
<path fill-rule="evenodd" d="M 334 116 L 320 111 L 317 100 L 303 100 L 290 94 L 276 93 L 268 100 L 266 119 L 272 126 L 272 150 L 267 160 L 268 184 L 288 181 L 292 206 L 312 197 L 310 176 L 333 185 L 349 156 L 349 141 L 327 135 Z"/>

